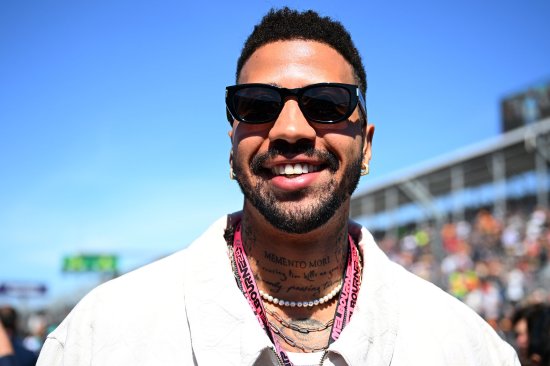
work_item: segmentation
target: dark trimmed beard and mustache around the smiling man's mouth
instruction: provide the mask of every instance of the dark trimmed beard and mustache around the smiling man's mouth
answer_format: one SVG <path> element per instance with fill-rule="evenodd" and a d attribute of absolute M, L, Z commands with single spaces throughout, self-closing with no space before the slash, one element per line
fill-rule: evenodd
<path fill-rule="evenodd" d="M 292 150 L 292 151 L 290 151 Z M 277 155 L 292 155 L 302 153 L 308 157 L 315 157 L 325 162 L 326 170 L 330 172 L 331 179 L 322 186 L 308 187 L 296 192 L 289 192 L 283 197 L 278 197 L 268 187 L 266 175 L 270 174 L 263 168 L 263 163 Z M 338 183 L 335 173 L 340 168 L 337 157 L 328 151 L 314 150 L 313 147 L 300 147 L 286 145 L 273 147 L 264 154 L 255 156 L 249 167 L 249 171 L 259 178 L 256 184 L 247 179 L 244 163 L 239 162 L 236 156 L 234 172 L 236 180 L 245 196 L 253 207 L 275 228 L 291 234 L 304 234 L 317 229 L 327 223 L 351 196 L 360 179 L 362 156 L 352 159 L 344 167 L 342 180 Z M 300 202 L 310 197 L 307 203 Z"/>

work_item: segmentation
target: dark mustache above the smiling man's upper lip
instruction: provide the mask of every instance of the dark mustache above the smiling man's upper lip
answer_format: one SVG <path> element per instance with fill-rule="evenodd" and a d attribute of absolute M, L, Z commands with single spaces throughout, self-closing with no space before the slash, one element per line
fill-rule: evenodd
<path fill-rule="evenodd" d="M 269 147 L 269 149 L 262 154 L 258 154 L 252 158 L 250 162 L 250 168 L 254 174 L 260 174 L 264 169 L 263 166 L 266 161 L 274 159 L 277 156 L 284 156 L 290 158 L 296 155 L 305 155 L 309 158 L 315 158 L 319 161 L 322 161 L 327 165 L 328 169 L 331 172 L 336 172 L 340 167 L 338 158 L 331 151 L 326 150 L 316 150 L 310 144 L 274 144 Z"/>

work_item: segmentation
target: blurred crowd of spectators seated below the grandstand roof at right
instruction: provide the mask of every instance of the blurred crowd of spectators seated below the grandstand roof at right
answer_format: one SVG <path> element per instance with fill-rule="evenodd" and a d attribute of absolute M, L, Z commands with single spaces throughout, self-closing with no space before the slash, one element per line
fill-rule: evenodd
<path fill-rule="evenodd" d="M 378 242 L 392 260 L 473 308 L 516 348 L 522 365 L 550 365 L 548 208 L 516 209 L 503 218 L 480 209 L 470 220 L 449 220 L 439 230 L 411 225 Z M 440 263 L 434 245 L 441 245 Z M 538 329 L 530 341 L 540 346 L 528 346 L 527 328 Z M 540 360 L 531 360 L 534 348 Z"/>

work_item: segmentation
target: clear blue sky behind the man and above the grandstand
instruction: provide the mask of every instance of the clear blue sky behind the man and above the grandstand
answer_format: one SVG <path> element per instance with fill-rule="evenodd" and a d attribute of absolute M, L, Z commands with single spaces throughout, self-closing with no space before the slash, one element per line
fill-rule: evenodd
<path fill-rule="evenodd" d="M 499 100 L 550 79 L 546 0 L 2 1 L 0 282 L 80 296 L 97 276 L 63 275 L 63 255 L 128 270 L 238 210 L 224 87 L 283 5 L 340 20 L 364 58 L 376 133 L 359 189 L 498 135 Z"/>

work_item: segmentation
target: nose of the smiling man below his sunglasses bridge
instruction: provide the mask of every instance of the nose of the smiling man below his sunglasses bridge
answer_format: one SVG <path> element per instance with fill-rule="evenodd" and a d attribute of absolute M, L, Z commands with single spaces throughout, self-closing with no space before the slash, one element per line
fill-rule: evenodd
<path fill-rule="evenodd" d="M 298 102 L 289 99 L 285 102 L 283 110 L 269 131 L 269 139 L 284 140 L 294 144 L 299 140 L 315 140 L 317 132 L 304 117 Z"/>

